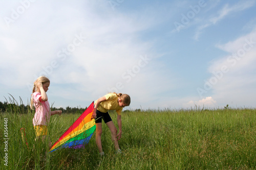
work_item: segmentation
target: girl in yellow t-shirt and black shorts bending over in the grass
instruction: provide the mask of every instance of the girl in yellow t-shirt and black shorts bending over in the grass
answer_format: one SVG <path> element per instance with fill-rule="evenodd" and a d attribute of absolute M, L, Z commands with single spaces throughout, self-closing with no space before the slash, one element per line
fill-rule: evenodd
<path fill-rule="evenodd" d="M 92 118 L 95 118 L 96 144 L 101 156 L 104 155 L 101 144 L 102 119 L 111 131 L 111 137 L 112 141 L 115 144 L 116 152 L 122 153 L 118 145 L 118 140 L 121 138 L 122 135 L 121 111 L 125 106 L 129 106 L 130 103 L 130 96 L 122 93 L 108 93 L 95 101 Z M 116 110 L 117 112 L 117 124 L 119 128 L 118 134 L 117 129 L 108 113 L 109 110 Z"/>

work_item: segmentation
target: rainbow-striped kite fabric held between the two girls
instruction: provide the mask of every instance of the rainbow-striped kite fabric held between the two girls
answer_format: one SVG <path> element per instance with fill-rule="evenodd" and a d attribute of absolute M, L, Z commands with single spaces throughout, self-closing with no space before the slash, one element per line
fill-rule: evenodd
<path fill-rule="evenodd" d="M 84 148 L 96 129 L 95 119 L 91 119 L 94 102 L 78 117 L 73 125 L 54 143 L 49 152 L 60 148 Z"/>

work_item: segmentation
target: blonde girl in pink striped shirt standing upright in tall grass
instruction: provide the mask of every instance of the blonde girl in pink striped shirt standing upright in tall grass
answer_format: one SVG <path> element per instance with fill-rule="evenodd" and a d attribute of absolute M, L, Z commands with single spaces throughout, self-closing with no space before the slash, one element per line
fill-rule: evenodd
<path fill-rule="evenodd" d="M 48 102 L 48 96 L 46 92 L 50 86 L 50 80 L 41 76 L 36 79 L 34 82 L 32 94 L 31 94 L 31 102 L 30 107 L 34 109 L 35 107 L 35 115 L 33 118 L 33 125 L 36 131 L 36 137 L 41 137 L 42 140 L 45 139 L 48 129 L 47 125 L 50 120 L 50 116 L 54 114 L 61 114 L 61 110 L 51 111 L 50 105 Z M 34 107 L 33 107 L 34 106 Z"/>

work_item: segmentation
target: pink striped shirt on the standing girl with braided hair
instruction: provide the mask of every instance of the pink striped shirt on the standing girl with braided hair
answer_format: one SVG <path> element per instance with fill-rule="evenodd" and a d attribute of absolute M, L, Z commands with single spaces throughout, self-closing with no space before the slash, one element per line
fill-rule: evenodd
<path fill-rule="evenodd" d="M 51 109 L 48 101 L 39 101 L 41 93 L 34 92 L 32 94 L 35 106 L 35 116 L 33 118 L 33 125 L 48 125 L 51 116 Z"/>

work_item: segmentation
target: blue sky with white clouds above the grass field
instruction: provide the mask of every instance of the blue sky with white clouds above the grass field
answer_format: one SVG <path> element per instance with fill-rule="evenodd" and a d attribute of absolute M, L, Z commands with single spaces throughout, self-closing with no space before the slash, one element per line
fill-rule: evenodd
<path fill-rule="evenodd" d="M 256 107 L 256 1 L 3 1 L 0 101 L 54 107 L 108 92 L 127 109 Z M 5 99 L 6 98 L 6 99 Z"/>

